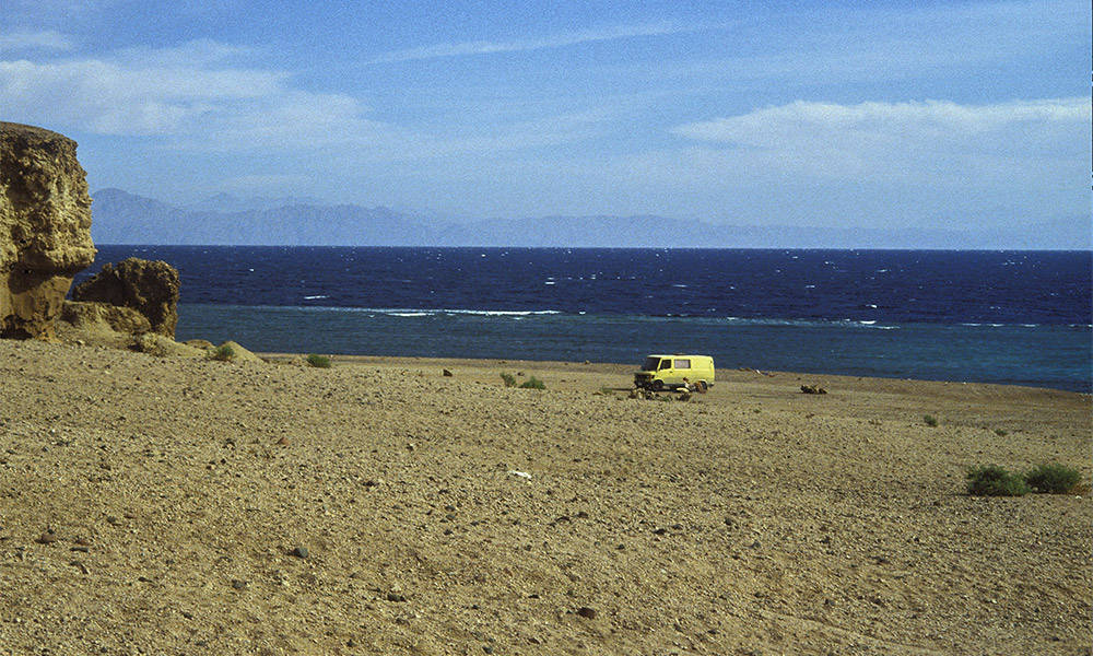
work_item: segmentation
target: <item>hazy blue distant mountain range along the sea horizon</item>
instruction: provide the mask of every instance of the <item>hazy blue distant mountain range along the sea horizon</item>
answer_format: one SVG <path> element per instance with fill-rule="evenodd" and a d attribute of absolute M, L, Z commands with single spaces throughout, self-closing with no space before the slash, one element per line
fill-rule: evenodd
<path fill-rule="evenodd" d="M 529 246 L 621 248 L 1089 249 L 1089 218 L 1012 230 L 713 225 L 663 216 L 543 216 L 448 222 L 312 198 L 218 195 L 175 207 L 120 189 L 93 195 L 98 244 Z"/>

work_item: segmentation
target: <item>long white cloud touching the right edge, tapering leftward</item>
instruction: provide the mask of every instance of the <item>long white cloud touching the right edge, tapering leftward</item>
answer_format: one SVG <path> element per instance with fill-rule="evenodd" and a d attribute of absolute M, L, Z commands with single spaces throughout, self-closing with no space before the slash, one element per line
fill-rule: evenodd
<path fill-rule="evenodd" d="M 1033 164 L 1059 173 L 1073 162 L 1088 163 L 1090 120 L 1089 98 L 994 105 L 798 101 L 672 132 L 725 144 L 733 159 L 775 171 L 960 181 L 1012 175 Z"/>

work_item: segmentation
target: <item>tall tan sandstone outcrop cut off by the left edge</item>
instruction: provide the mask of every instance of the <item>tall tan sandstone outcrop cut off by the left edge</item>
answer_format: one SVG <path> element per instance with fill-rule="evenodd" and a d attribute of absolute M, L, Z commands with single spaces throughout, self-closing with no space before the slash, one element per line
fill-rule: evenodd
<path fill-rule="evenodd" d="M 71 139 L 0 122 L 0 337 L 51 338 L 72 277 L 95 259 Z"/>

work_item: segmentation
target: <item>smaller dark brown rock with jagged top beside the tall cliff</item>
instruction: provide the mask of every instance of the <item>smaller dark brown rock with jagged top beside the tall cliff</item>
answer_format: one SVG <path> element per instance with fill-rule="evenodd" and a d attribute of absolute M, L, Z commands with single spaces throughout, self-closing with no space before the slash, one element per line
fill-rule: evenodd
<path fill-rule="evenodd" d="M 178 323 L 178 271 L 163 261 L 130 257 L 106 265 L 72 290 L 74 301 L 131 307 L 148 317 L 152 332 L 175 337 Z"/>

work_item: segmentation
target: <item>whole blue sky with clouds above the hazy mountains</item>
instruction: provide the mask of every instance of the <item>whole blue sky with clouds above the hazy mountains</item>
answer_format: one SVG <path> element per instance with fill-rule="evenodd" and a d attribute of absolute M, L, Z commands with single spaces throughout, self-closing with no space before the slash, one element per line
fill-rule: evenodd
<path fill-rule="evenodd" d="M 5 0 L 0 119 L 171 202 L 1088 224 L 1090 24 L 1085 0 Z"/>

